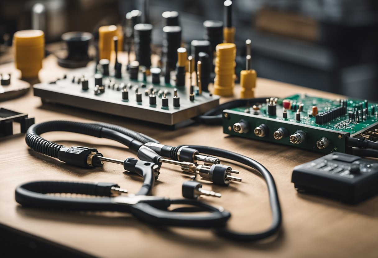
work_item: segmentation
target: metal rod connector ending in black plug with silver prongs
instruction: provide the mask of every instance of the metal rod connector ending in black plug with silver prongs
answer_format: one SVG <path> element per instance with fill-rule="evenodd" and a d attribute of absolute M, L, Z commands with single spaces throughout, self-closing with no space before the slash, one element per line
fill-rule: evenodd
<path fill-rule="evenodd" d="M 242 181 L 242 178 L 234 177 L 231 175 L 239 174 L 239 171 L 233 170 L 231 167 L 222 164 L 214 164 L 212 166 L 197 166 L 196 164 L 191 162 L 180 162 L 175 160 L 167 160 L 165 158 L 161 158 L 159 161 L 162 163 L 181 166 L 181 170 L 183 170 L 184 172 L 200 175 L 204 180 L 211 181 L 214 184 L 225 186 L 228 185 L 231 181 Z"/>

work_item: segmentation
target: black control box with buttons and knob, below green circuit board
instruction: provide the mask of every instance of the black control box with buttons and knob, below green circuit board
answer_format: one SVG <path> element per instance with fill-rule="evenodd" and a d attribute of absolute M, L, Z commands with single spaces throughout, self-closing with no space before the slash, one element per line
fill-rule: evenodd
<path fill-rule="evenodd" d="M 378 193 L 378 162 L 334 152 L 294 167 L 291 182 L 299 192 L 359 203 Z"/>

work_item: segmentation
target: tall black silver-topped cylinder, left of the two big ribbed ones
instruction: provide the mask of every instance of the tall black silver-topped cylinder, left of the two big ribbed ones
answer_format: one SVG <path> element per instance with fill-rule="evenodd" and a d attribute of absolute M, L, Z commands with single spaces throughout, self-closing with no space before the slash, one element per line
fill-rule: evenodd
<path fill-rule="evenodd" d="M 136 61 L 139 65 L 151 66 L 151 32 L 153 26 L 148 23 L 139 23 L 134 26 L 134 48 Z"/>

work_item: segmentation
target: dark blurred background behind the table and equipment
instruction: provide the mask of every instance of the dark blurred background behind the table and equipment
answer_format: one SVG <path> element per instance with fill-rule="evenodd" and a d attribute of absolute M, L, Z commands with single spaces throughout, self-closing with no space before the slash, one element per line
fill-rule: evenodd
<path fill-rule="evenodd" d="M 37 3 L 42 5 L 36 8 Z M 99 26 L 122 25 L 133 9 L 145 8 L 143 19 L 154 26 L 156 46 L 163 40 L 164 11 L 179 12 L 188 45 L 203 39 L 204 20 L 223 21 L 222 0 L 2 0 L 0 55 L 15 31 L 41 25 L 33 8 L 44 14 L 46 43 L 60 41 L 69 31 L 92 32 L 96 38 Z M 244 42 L 251 39 L 252 66 L 259 77 L 378 100 L 378 1 L 234 0 L 232 12 L 240 66 Z"/>

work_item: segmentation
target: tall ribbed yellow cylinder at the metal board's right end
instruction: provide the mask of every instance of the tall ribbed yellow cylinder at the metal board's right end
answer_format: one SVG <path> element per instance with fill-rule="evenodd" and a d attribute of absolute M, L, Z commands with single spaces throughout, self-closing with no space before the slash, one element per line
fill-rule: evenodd
<path fill-rule="evenodd" d="M 223 97 L 234 95 L 236 46 L 233 43 L 222 43 L 215 48 L 214 94 Z"/>

